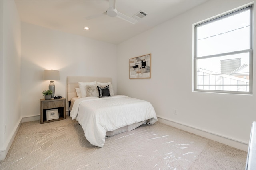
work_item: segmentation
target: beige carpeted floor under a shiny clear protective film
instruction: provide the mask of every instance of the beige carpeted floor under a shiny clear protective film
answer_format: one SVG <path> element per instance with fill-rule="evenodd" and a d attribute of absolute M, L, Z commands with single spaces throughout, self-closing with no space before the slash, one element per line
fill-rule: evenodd
<path fill-rule="evenodd" d="M 91 145 L 66 120 L 22 123 L 1 170 L 243 170 L 247 152 L 156 122 Z"/>

